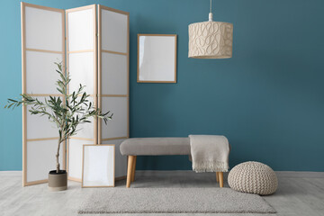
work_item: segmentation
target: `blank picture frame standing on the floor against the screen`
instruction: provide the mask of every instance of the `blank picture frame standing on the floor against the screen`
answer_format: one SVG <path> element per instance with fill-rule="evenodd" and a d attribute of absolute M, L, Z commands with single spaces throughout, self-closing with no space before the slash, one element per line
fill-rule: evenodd
<path fill-rule="evenodd" d="M 115 145 L 83 145 L 82 187 L 113 187 Z"/>

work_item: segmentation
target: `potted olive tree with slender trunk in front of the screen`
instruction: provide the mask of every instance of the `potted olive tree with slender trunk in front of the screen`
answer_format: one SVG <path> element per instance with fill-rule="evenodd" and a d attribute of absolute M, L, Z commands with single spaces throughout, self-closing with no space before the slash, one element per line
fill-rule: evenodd
<path fill-rule="evenodd" d="M 56 153 L 56 170 L 49 171 L 49 190 L 61 191 L 67 189 L 67 172 L 61 170 L 58 162 L 59 148 L 61 144 L 76 135 L 77 126 L 79 124 L 90 122 L 89 118 L 98 117 L 103 119 L 105 123 L 112 119 L 110 112 L 101 112 L 95 108 L 93 103 L 88 101 L 89 94 L 84 92 L 85 85 L 79 85 L 77 91 L 67 94 L 67 85 L 71 81 L 70 76 L 63 72 L 62 64 L 55 63 L 58 67 L 56 70 L 60 78 L 56 85 L 57 90 L 63 95 L 63 99 L 59 96 L 49 96 L 44 102 L 29 94 L 21 94 L 20 100 L 8 99 L 8 103 L 4 108 L 16 108 L 20 105 L 30 105 L 29 112 L 40 116 L 46 116 L 49 121 L 56 124 L 58 128 L 58 150 Z"/>

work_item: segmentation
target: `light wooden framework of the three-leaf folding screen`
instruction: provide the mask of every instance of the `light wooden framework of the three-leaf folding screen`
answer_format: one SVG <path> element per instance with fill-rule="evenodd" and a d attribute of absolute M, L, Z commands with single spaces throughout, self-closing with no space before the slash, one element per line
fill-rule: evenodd
<path fill-rule="evenodd" d="M 25 32 L 25 7 L 30 6 L 33 8 L 39 8 L 43 10 L 49 10 L 54 12 L 59 12 L 62 14 L 62 50 L 61 51 L 54 51 L 54 50 L 44 50 L 44 49 L 27 49 L 26 48 L 26 32 Z M 117 140 L 117 139 L 127 139 L 130 137 L 130 14 L 128 12 L 123 12 L 120 10 L 113 9 L 111 7 L 103 6 L 100 4 L 91 4 L 82 7 L 76 7 L 68 10 L 61 10 L 56 8 L 50 8 L 46 6 L 41 6 L 37 4 L 27 4 L 21 3 L 21 14 L 22 14 L 22 76 L 23 76 L 23 94 L 27 94 L 26 88 L 26 51 L 40 51 L 40 52 L 49 52 L 49 53 L 56 53 L 62 55 L 62 64 L 64 68 L 67 68 L 68 71 L 68 55 L 70 53 L 76 52 L 89 52 L 89 50 L 72 50 L 69 51 L 68 49 L 68 13 L 73 13 L 76 11 L 82 11 L 87 9 L 93 9 L 94 12 L 94 49 L 91 51 L 94 52 L 94 94 L 90 96 L 94 98 L 94 106 L 101 108 L 102 105 L 102 98 L 103 97 L 122 97 L 127 98 L 127 136 L 125 137 L 113 137 L 109 139 L 102 139 L 102 126 L 101 120 L 94 119 L 94 138 L 87 139 L 87 138 L 79 138 L 73 137 L 71 139 L 78 139 L 78 140 L 85 140 L 89 143 L 93 142 L 94 145 L 98 145 L 98 143 L 107 142 L 109 140 Z M 127 51 L 125 53 L 115 52 L 112 50 L 104 50 L 101 47 L 101 10 L 108 10 L 114 13 L 125 14 L 127 15 Z M 127 57 L 127 94 L 101 94 L 102 92 L 102 74 L 101 74 L 101 60 L 102 60 L 102 52 L 110 52 L 112 54 L 124 55 Z M 64 71 L 66 73 L 66 71 Z M 67 87 L 67 94 L 69 93 L 69 87 Z M 63 94 L 31 94 L 32 96 L 63 96 Z M 64 98 L 63 98 L 64 99 Z M 63 100 L 65 102 L 65 100 Z M 48 179 L 43 179 L 40 181 L 33 181 L 27 182 L 27 141 L 39 141 L 39 140 L 49 140 L 49 139 L 58 139 L 58 137 L 53 138 L 44 138 L 44 139 L 27 139 L 27 108 L 23 106 L 23 186 L 31 185 L 31 184 L 42 184 L 48 182 Z M 104 144 L 105 145 L 105 144 Z M 63 150 L 63 161 L 62 161 L 62 168 L 67 170 L 68 175 L 68 156 L 69 156 L 69 140 L 62 144 Z M 40 153 L 41 154 L 41 153 Z M 80 165 L 81 166 L 81 165 Z M 126 176 L 117 177 L 117 179 L 123 179 Z M 82 182 L 80 178 L 74 177 L 67 177 L 69 180 Z"/>

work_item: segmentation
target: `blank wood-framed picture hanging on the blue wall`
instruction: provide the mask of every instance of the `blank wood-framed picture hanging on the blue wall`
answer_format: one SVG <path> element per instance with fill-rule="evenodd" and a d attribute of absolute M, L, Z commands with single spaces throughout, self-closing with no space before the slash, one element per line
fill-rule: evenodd
<path fill-rule="evenodd" d="M 138 83 L 176 83 L 176 34 L 138 34 Z"/>

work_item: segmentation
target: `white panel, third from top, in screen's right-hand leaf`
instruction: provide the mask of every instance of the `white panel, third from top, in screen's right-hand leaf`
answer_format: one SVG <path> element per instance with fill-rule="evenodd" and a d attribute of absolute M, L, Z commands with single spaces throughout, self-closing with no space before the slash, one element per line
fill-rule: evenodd
<path fill-rule="evenodd" d="M 113 113 L 112 120 L 107 125 L 102 121 L 103 139 L 128 136 L 128 103 L 127 97 L 103 97 L 103 111 Z"/>

